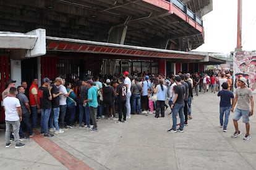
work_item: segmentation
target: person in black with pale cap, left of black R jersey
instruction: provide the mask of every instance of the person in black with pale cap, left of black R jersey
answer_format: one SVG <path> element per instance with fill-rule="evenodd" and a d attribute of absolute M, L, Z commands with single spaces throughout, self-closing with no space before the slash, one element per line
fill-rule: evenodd
<path fill-rule="evenodd" d="M 109 119 L 116 119 L 116 113 L 114 111 L 114 87 L 110 86 L 110 79 L 106 79 L 106 86 L 103 86 L 103 102 L 106 105 L 106 115 Z"/>

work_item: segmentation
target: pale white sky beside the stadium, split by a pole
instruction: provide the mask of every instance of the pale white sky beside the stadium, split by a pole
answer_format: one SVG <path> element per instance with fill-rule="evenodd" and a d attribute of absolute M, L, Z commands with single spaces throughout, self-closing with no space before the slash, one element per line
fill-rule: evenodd
<path fill-rule="evenodd" d="M 242 0 L 242 50 L 256 50 L 256 1 Z M 203 16 L 205 44 L 194 51 L 229 54 L 236 48 L 237 0 L 213 0 L 213 10 Z"/>

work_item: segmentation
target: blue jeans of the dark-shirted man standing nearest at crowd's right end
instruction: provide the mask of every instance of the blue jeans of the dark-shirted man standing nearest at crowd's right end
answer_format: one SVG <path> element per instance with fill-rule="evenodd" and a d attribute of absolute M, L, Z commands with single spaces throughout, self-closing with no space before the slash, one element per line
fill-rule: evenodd
<path fill-rule="evenodd" d="M 179 126 L 180 129 L 183 129 L 184 127 L 184 103 L 179 104 L 175 103 L 173 107 L 173 127 L 172 129 L 176 129 L 177 126 L 177 113 L 179 113 L 179 118 L 181 119 L 181 126 Z"/>

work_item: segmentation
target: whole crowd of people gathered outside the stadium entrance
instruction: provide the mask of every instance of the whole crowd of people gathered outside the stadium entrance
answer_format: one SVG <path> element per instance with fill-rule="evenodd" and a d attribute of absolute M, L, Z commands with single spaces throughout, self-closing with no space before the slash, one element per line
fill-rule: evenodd
<path fill-rule="evenodd" d="M 126 123 L 131 115 L 155 114 L 155 118 L 159 119 L 165 116 L 168 107 L 171 108 L 169 114 L 172 114 L 173 118 L 173 126 L 168 132 L 184 132 L 188 119 L 192 119 L 193 89 L 198 96 L 202 88 L 205 94 L 209 87 L 211 92 L 218 92 L 218 96 L 221 97 L 220 127 L 223 127 L 223 132 L 227 131 L 229 113 L 234 110 L 237 103 L 236 114 L 233 117 L 236 132 L 232 137 L 241 134 L 237 120 L 242 115 L 247 129 L 244 139 L 250 139 L 249 115 L 253 113 L 254 102 L 252 92 L 244 79 L 238 79 L 239 87 L 235 97 L 230 91 L 232 75 L 225 72 L 179 72 L 175 76 L 143 73 L 138 76 L 129 75 L 128 71 L 124 71 L 122 75 L 108 76 L 106 79 L 98 75 L 88 75 L 85 79 L 77 79 L 72 83 L 61 77 L 53 81 L 43 78 L 40 87 L 38 79 L 34 78 L 29 88 L 27 82 L 22 81 L 17 89 L 16 81 L 11 79 L 7 81 L 7 88 L 2 92 L 6 114 L 6 147 L 11 145 L 10 140 L 15 140 L 15 148 L 24 147 L 25 144 L 20 140 L 33 137 L 33 131 L 40 131 L 44 137 L 62 134 L 75 126 L 79 126 L 79 129 L 87 128 L 90 132 L 98 132 L 98 119 L 103 118 L 113 119 L 115 123 Z M 244 86 L 241 82 L 245 83 Z M 248 94 L 247 98 L 243 96 L 246 100 L 240 99 L 243 92 Z M 166 100 L 169 105 L 166 105 Z M 245 101 L 247 105 L 241 101 Z M 244 116 L 246 114 L 247 118 Z M 177 123 L 177 118 L 180 119 L 180 123 Z"/>

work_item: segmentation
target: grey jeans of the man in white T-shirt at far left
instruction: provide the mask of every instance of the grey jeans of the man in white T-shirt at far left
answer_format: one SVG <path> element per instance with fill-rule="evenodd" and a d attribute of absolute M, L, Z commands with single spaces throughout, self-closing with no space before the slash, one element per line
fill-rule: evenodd
<path fill-rule="evenodd" d="M 19 144 L 20 121 L 6 121 L 6 144 L 10 143 L 10 134 L 14 132 L 15 144 Z"/>

